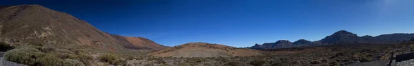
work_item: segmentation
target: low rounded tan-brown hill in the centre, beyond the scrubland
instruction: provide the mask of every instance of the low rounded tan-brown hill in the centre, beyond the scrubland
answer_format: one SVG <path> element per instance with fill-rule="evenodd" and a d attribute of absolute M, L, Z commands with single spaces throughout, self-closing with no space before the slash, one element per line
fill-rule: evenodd
<path fill-rule="evenodd" d="M 230 56 L 258 56 L 262 55 L 257 50 L 229 47 L 226 45 L 210 43 L 186 43 L 175 47 L 168 47 L 158 52 L 148 54 L 150 56 L 172 57 L 230 57 Z"/>

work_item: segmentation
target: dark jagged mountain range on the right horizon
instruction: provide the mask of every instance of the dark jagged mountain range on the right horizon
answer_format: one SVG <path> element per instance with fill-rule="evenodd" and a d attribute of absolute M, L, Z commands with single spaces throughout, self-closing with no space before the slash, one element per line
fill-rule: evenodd
<path fill-rule="evenodd" d="M 408 41 L 414 37 L 414 34 L 382 34 L 380 36 L 357 36 L 351 32 L 345 30 L 339 30 L 326 36 L 319 41 L 306 41 L 305 39 L 299 39 L 293 43 L 286 40 L 277 41 L 276 43 L 264 43 L 263 45 L 255 44 L 250 49 L 278 49 L 278 48 L 290 48 L 290 47 L 311 47 L 317 45 L 337 45 L 337 44 L 388 44 L 388 43 L 400 43 L 402 41 Z"/>

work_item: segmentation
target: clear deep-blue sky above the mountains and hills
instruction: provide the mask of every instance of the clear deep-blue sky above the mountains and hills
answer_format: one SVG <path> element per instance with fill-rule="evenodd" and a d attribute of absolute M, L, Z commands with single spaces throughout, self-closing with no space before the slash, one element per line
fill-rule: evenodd
<path fill-rule="evenodd" d="M 414 33 L 414 0 L 8 0 L 40 4 L 99 30 L 167 46 L 207 42 L 249 47 L 318 41 L 339 30 L 358 36 Z"/>

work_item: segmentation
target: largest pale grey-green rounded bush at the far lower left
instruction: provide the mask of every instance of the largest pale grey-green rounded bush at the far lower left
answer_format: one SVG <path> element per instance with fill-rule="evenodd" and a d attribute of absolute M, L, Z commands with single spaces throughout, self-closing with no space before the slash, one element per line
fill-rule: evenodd
<path fill-rule="evenodd" d="M 12 61 L 15 63 L 21 63 L 26 65 L 39 65 L 37 58 L 41 58 L 46 54 L 40 52 L 32 47 L 19 47 L 14 50 L 6 52 L 6 61 Z"/>

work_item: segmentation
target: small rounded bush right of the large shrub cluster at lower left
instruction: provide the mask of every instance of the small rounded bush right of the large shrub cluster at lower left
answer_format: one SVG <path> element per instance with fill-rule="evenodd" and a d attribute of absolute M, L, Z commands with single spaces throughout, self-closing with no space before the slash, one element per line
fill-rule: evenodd
<path fill-rule="evenodd" d="M 114 54 L 103 54 L 102 56 L 99 56 L 99 61 L 110 63 L 111 65 L 125 65 L 126 61 L 122 61 L 118 56 Z"/>

